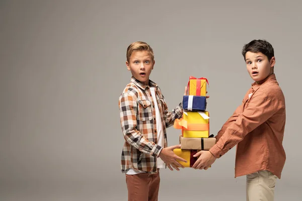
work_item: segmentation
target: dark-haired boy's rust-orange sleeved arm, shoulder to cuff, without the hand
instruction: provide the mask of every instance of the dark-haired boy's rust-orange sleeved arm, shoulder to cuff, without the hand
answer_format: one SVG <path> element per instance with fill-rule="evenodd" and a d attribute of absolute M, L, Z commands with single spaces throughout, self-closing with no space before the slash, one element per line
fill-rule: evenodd
<path fill-rule="evenodd" d="M 275 113 L 272 99 L 262 91 L 255 93 L 247 104 L 248 107 L 225 129 L 219 141 L 209 150 L 216 158 L 228 152 Z"/>

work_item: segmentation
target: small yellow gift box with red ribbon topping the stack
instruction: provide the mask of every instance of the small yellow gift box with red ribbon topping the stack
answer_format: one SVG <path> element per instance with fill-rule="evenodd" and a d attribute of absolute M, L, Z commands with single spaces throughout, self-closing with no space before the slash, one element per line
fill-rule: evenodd
<path fill-rule="evenodd" d="M 204 77 L 196 78 L 190 76 L 188 82 L 189 95 L 206 96 L 206 83 L 209 84 L 208 80 Z"/>

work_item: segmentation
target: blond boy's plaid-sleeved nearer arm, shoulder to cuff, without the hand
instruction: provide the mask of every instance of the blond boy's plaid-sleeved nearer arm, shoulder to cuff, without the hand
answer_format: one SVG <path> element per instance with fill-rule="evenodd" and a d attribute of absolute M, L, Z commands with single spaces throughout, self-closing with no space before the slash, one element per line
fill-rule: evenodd
<path fill-rule="evenodd" d="M 157 157 L 161 146 L 154 142 L 149 142 L 138 130 L 136 130 L 137 121 L 137 103 L 136 97 L 128 92 L 121 94 L 119 97 L 119 110 L 122 132 L 127 143 L 139 151 Z"/>

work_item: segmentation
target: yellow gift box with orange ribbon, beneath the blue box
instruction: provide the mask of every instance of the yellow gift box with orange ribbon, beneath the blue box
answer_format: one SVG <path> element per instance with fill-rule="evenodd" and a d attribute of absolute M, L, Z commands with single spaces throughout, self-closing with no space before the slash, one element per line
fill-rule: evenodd
<path fill-rule="evenodd" d="M 209 112 L 204 112 L 209 117 Z M 203 119 L 198 112 L 187 112 L 183 114 L 183 120 L 187 122 L 187 128 L 182 128 L 184 138 L 208 138 L 209 119 Z"/>

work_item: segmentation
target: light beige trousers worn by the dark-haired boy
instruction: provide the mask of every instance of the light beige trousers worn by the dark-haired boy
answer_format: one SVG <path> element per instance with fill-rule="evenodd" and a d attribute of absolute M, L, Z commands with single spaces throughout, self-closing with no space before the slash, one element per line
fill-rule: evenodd
<path fill-rule="evenodd" d="M 247 175 L 247 201 L 273 201 L 277 176 L 267 170 Z"/>

